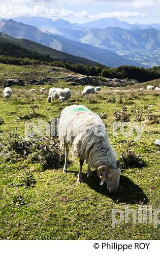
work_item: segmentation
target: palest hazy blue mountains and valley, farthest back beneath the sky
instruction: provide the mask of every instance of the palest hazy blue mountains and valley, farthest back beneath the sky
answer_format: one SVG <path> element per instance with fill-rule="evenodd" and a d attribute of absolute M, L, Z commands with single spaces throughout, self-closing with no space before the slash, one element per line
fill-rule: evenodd
<path fill-rule="evenodd" d="M 116 53 L 131 61 L 133 65 L 148 67 L 160 65 L 160 24 L 129 24 L 115 18 L 99 19 L 85 24 L 71 24 L 62 19 L 54 22 L 42 17 L 18 17 L 14 20 L 32 24 L 68 40 Z M 97 48 L 94 55 L 99 53 Z M 63 50 L 66 52 L 66 49 Z M 91 55 L 86 58 L 91 59 Z M 101 58 L 97 59 L 97 56 L 94 61 L 106 64 Z M 117 59 L 117 61 L 119 65 L 120 60 Z"/>

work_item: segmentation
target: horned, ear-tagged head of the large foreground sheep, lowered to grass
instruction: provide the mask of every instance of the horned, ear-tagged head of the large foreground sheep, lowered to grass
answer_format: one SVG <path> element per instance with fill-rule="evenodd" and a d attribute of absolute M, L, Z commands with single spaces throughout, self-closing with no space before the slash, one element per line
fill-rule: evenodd
<path fill-rule="evenodd" d="M 100 185 L 103 185 L 104 182 L 106 182 L 107 189 L 110 193 L 118 191 L 121 176 L 119 161 L 117 161 L 117 166 L 114 169 L 109 166 L 102 165 L 98 168 L 97 172 L 101 179 Z"/>

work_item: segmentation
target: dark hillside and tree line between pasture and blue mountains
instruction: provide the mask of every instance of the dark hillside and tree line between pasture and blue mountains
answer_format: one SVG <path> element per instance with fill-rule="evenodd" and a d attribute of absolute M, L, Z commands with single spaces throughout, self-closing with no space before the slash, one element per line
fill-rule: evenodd
<path fill-rule="evenodd" d="M 104 65 L 73 64 L 53 59 L 49 55 L 32 52 L 20 45 L 0 42 L 0 63 L 13 65 L 44 64 L 49 66 L 64 67 L 75 73 L 88 76 L 103 76 L 106 78 L 135 79 L 146 82 L 160 78 L 160 66 L 143 68 L 136 66 L 107 67 Z"/>

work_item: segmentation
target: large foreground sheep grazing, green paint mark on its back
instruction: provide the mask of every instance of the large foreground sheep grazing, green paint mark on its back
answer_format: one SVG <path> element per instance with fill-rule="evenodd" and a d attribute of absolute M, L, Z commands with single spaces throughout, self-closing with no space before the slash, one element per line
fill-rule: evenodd
<path fill-rule="evenodd" d="M 82 182 L 82 167 L 86 160 L 88 177 L 92 176 L 91 167 L 96 168 L 101 185 L 106 182 L 109 192 L 117 192 L 121 170 L 100 117 L 83 105 L 72 105 L 62 111 L 58 130 L 61 147 L 65 150 L 64 173 L 67 172 L 70 144 L 72 155 L 80 160 L 77 181 Z"/>

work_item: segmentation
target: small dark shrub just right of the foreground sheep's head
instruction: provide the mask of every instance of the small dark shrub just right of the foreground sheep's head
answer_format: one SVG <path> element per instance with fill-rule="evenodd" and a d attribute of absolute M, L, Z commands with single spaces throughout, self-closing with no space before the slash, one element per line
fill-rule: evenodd
<path fill-rule="evenodd" d="M 142 160 L 140 154 L 136 155 L 135 152 L 128 149 L 126 152 L 121 154 L 121 166 L 123 168 L 141 168 L 145 166 L 145 162 Z"/>

